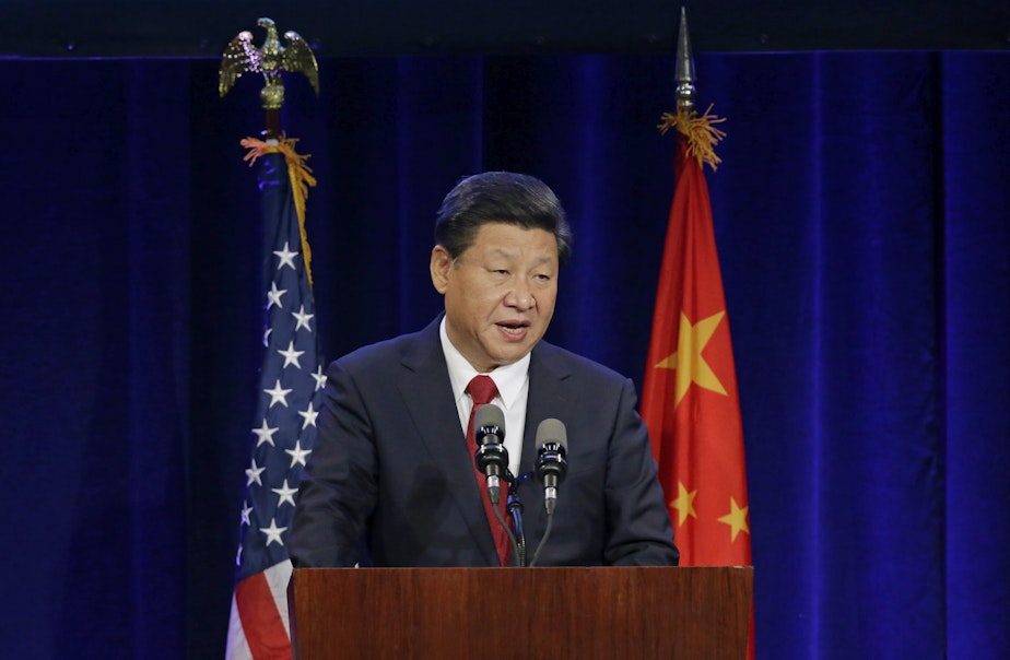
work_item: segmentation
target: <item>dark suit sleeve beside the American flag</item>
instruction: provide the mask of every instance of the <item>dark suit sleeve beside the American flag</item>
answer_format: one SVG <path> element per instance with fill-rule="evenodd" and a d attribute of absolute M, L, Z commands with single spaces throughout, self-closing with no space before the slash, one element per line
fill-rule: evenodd
<path fill-rule="evenodd" d="M 375 508 L 377 461 L 372 422 L 352 375 L 327 369 L 316 445 L 298 488 L 290 537 L 297 567 L 350 567 L 360 559 L 365 521 Z"/>

